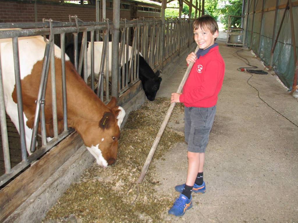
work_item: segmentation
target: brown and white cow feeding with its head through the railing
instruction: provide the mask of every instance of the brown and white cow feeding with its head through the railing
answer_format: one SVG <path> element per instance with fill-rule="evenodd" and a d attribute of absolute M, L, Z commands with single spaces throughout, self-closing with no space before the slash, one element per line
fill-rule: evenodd
<path fill-rule="evenodd" d="M 24 106 L 26 147 L 30 154 L 30 142 L 35 115 L 41 69 L 46 43 L 43 37 L 18 38 L 21 87 Z M 4 101 L 7 114 L 19 132 L 17 96 L 11 39 L 0 39 Z M 81 135 L 84 144 L 96 158 L 97 164 L 107 167 L 117 158 L 120 125 L 125 116 L 122 107 L 116 106 L 116 98 L 105 105 L 78 75 L 65 55 L 67 120 Z M 55 45 L 55 72 L 57 90 L 58 131 L 63 131 L 63 102 L 61 83 L 61 49 Z M 45 116 L 47 137 L 53 137 L 51 74 L 47 82 Z M 40 133 L 40 126 L 39 126 Z"/>

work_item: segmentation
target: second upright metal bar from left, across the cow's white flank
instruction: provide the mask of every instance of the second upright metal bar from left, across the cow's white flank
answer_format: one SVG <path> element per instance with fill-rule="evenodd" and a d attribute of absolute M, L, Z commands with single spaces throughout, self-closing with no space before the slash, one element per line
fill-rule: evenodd
<path fill-rule="evenodd" d="M 15 70 L 15 85 L 17 87 L 18 119 L 19 119 L 19 127 L 20 127 L 22 160 L 26 160 L 27 152 L 26 152 L 25 126 L 24 126 L 24 116 L 23 116 L 23 97 L 22 97 L 21 73 L 20 73 L 20 61 L 19 61 L 17 37 L 13 38 L 13 61 L 14 61 L 14 70 Z"/>

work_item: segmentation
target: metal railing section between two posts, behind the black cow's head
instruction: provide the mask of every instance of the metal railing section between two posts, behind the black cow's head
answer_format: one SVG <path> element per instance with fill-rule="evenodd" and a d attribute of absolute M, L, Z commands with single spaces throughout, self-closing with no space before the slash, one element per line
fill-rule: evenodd
<path fill-rule="evenodd" d="M 158 67 L 160 20 L 120 22 L 119 95 L 139 81 L 139 54 L 152 69 Z"/>

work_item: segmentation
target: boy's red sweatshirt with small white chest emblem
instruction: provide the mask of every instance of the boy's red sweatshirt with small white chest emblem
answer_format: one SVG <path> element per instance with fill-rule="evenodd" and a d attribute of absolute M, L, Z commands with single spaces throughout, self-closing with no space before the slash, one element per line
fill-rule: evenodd
<path fill-rule="evenodd" d="M 218 46 L 196 60 L 184 84 L 180 102 L 186 107 L 212 107 L 224 81 L 225 64 Z"/>

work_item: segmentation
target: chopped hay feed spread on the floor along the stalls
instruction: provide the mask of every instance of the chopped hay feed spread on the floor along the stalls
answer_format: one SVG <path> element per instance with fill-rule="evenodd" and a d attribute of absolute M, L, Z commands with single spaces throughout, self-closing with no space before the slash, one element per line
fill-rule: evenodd
<path fill-rule="evenodd" d="M 159 179 L 155 167 L 150 165 L 136 200 L 135 182 L 169 106 L 169 98 L 156 98 L 131 112 L 121 130 L 117 162 L 106 169 L 96 163 L 86 169 L 43 222 L 164 222 L 163 213 L 172 205 L 174 195 L 162 197 L 156 193 L 154 186 Z M 169 122 L 177 122 L 183 112 L 183 105 L 177 103 Z M 166 127 L 153 160 L 162 158 L 167 150 L 183 141 L 183 131 Z"/>

